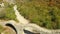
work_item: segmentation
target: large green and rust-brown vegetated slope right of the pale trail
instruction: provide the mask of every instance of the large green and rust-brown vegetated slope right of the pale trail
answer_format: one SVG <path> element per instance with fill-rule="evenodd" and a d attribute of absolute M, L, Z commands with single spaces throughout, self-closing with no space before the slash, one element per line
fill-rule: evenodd
<path fill-rule="evenodd" d="M 18 10 L 31 23 L 48 29 L 60 29 L 59 0 L 23 0 L 17 1 Z"/>

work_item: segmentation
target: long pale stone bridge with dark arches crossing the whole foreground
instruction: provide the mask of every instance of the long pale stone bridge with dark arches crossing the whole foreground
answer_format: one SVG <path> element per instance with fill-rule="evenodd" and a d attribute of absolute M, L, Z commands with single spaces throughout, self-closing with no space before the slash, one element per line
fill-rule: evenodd
<path fill-rule="evenodd" d="M 34 34 L 34 33 L 40 33 L 40 34 L 60 34 L 60 30 L 49 30 L 49 29 L 45 29 L 42 27 L 39 27 L 36 24 L 20 24 L 20 23 L 16 23 L 13 20 L 10 21 L 3 21 L 0 22 L 0 25 L 2 26 L 9 26 L 11 27 L 13 30 L 15 30 L 16 34 Z"/>

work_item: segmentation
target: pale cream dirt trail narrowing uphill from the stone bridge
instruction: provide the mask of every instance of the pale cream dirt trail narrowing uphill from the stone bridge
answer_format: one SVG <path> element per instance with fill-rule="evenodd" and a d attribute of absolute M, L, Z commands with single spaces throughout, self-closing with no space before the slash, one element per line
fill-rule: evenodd
<path fill-rule="evenodd" d="M 23 24 L 29 23 L 29 21 L 26 20 L 26 19 L 20 14 L 20 12 L 17 10 L 17 5 L 15 5 L 13 8 L 14 8 L 15 15 L 16 15 L 16 18 L 17 18 L 17 20 L 19 21 L 19 23 L 23 23 Z"/>

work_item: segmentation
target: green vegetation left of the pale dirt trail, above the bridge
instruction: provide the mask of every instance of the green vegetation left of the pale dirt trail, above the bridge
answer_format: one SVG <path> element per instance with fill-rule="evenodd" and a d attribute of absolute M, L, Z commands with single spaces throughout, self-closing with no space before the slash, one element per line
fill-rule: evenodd
<path fill-rule="evenodd" d="M 13 10 L 13 5 L 9 5 L 5 2 L 4 9 L 0 11 L 0 19 L 17 20 Z"/>

